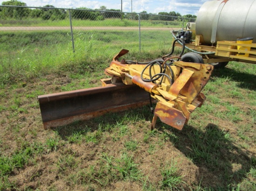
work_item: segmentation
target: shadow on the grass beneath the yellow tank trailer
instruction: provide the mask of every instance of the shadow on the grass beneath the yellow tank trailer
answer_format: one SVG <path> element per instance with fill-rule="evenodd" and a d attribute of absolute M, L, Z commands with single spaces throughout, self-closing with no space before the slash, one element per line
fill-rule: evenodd
<path fill-rule="evenodd" d="M 243 89 L 256 90 L 256 74 L 248 74 L 231 68 L 216 69 L 212 76 L 220 78 L 230 78 L 232 81 L 238 82 L 238 87 Z"/>

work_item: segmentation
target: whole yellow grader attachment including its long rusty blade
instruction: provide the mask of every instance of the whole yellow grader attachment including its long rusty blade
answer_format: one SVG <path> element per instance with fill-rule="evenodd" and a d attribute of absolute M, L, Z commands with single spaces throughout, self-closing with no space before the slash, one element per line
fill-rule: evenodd
<path fill-rule="evenodd" d="M 157 59 L 162 64 L 152 62 L 150 67 L 137 61 L 133 62 L 136 64 L 119 62 L 126 53 L 128 50 L 121 50 L 105 69 L 105 74 L 112 78 L 101 80 L 102 87 L 38 96 L 44 128 L 141 107 L 149 103 L 149 93 L 152 100 L 158 101 L 152 128 L 159 117 L 162 122 L 182 130 L 190 114 L 205 100 L 201 90 L 209 81 L 213 66 L 174 61 L 173 57 L 165 61 Z M 172 64 L 165 66 L 162 75 L 167 61 Z M 152 76 L 160 77 L 152 80 Z"/>

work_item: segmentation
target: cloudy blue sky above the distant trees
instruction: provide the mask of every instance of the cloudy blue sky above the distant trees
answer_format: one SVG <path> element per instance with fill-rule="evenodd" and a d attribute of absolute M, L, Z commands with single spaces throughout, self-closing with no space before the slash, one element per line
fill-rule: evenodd
<path fill-rule="evenodd" d="M 0 4 L 3 1 L 0 0 Z M 175 11 L 181 15 L 197 15 L 200 7 L 208 0 L 19 0 L 27 6 L 45 6 L 53 5 L 58 8 L 79 8 L 86 7 L 98 9 L 100 6 L 106 6 L 107 9 L 120 9 L 122 2 L 123 12 L 147 11 L 147 13 L 171 12 Z"/>

